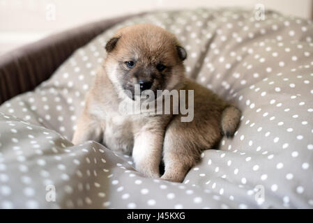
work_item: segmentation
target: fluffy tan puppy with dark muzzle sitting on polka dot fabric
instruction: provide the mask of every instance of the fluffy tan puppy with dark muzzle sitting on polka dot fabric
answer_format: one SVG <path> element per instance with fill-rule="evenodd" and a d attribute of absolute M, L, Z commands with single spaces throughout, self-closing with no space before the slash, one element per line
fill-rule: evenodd
<path fill-rule="evenodd" d="M 161 178 L 181 182 L 201 151 L 238 128 L 241 112 L 236 107 L 185 77 L 187 53 L 172 33 L 151 24 L 128 26 L 117 31 L 105 49 L 106 59 L 86 95 L 73 144 L 95 140 L 112 151 L 132 154 L 137 171 L 151 178 L 160 178 L 164 161 Z M 193 90 L 194 98 L 188 99 L 194 105 L 192 121 L 181 121 L 184 114 L 174 114 L 174 103 L 171 114 L 121 114 L 121 102 L 135 102 L 136 84 L 140 91 L 153 93 Z"/>

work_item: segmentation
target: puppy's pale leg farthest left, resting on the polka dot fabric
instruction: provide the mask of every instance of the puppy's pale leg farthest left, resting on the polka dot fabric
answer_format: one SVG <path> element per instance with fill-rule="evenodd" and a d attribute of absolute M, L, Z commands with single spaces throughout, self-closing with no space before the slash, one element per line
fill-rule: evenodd
<path fill-rule="evenodd" d="M 89 114 L 86 114 L 86 112 L 83 112 L 78 119 L 72 143 L 77 145 L 87 140 L 100 141 L 101 133 L 100 123 L 89 116 Z"/>

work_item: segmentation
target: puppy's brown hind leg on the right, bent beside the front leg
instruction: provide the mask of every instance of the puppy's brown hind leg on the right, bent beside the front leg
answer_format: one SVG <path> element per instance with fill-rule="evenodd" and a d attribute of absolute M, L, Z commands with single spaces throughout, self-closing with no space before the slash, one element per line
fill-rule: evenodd
<path fill-rule="evenodd" d="M 201 151 L 212 148 L 220 141 L 220 118 L 218 112 L 197 109 L 194 119 L 181 122 L 181 116 L 167 126 L 163 145 L 165 162 L 164 180 L 182 182 L 189 169 L 201 158 Z"/>

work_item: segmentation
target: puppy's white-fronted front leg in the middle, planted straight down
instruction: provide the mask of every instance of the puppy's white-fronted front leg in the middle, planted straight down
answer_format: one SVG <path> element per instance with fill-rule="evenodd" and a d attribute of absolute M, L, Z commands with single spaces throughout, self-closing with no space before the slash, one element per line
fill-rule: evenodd
<path fill-rule="evenodd" d="M 147 177 L 160 178 L 164 131 L 142 130 L 135 135 L 132 157 L 137 171 Z"/>

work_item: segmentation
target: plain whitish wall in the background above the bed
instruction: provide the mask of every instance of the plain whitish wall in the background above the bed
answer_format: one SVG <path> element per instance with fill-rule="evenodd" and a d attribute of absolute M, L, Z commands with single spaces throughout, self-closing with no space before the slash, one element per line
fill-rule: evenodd
<path fill-rule="evenodd" d="M 0 0 L 0 54 L 72 26 L 155 9 L 263 3 L 287 15 L 311 18 L 312 0 Z"/>

